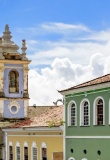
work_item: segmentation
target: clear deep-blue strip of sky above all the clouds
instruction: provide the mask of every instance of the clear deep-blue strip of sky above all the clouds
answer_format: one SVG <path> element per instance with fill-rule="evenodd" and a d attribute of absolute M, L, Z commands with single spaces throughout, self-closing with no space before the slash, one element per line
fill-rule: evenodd
<path fill-rule="evenodd" d="M 1 24 L 31 27 L 44 22 L 109 27 L 109 0 L 0 0 Z"/>

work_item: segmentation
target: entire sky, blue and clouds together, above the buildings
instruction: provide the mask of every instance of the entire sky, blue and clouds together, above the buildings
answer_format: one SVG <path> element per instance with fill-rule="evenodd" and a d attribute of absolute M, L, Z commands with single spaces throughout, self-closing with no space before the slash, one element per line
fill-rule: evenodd
<path fill-rule="evenodd" d="M 109 0 L 0 0 L 0 14 L 1 36 L 9 24 L 16 44 L 26 39 L 31 105 L 110 73 Z"/>

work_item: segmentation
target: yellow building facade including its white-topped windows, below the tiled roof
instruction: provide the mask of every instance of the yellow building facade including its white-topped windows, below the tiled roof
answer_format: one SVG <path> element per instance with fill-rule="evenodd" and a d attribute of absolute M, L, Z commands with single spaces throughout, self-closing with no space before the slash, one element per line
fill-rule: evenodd
<path fill-rule="evenodd" d="M 63 160 L 63 135 L 61 128 L 12 130 L 5 130 L 7 140 L 6 160 L 54 160 L 54 153 L 58 153 L 58 160 Z"/>

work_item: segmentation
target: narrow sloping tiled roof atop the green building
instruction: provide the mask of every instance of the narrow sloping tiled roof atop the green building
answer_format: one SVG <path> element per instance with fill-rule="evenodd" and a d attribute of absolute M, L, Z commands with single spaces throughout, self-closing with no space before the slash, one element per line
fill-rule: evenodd
<path fill-rule="evenodd" d="M 73 86 L 73 87 L 65 89 L 65 90 L 61 90 L 59 92 L 69 91 L 69 90 L 73 90 L 73 89 L 77 89 L 77 88 L 82 88 L 82 87 L 87 87 L 87 86 L 92 86 L 92 85 L 97 85 L 97 84 L 102 84 L 102 83 L 106 83 L 106 82 L 110 82 L 110 74 L 98 77 L 96 79 L 84 82 L 82 84 Z"/>

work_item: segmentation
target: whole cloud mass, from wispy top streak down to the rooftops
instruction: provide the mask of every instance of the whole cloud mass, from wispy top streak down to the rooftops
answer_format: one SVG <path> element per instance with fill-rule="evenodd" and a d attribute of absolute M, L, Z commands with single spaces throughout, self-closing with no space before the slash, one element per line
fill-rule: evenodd
<path fill-rule="evenodd" d="M 30 104 L 52 105 L 62 98 L 57 90 L 110 72 L 110 29 L 96 32 L 84 25 L 44 23 L 27 30 L 32 36 L 27 41 L 27 51 L 31 53 L 28 58 L 32 60 Z M 62 36 L 53 40 L 50 33 Z M 44 38 L 38 40 L 35 35 Z"/>

